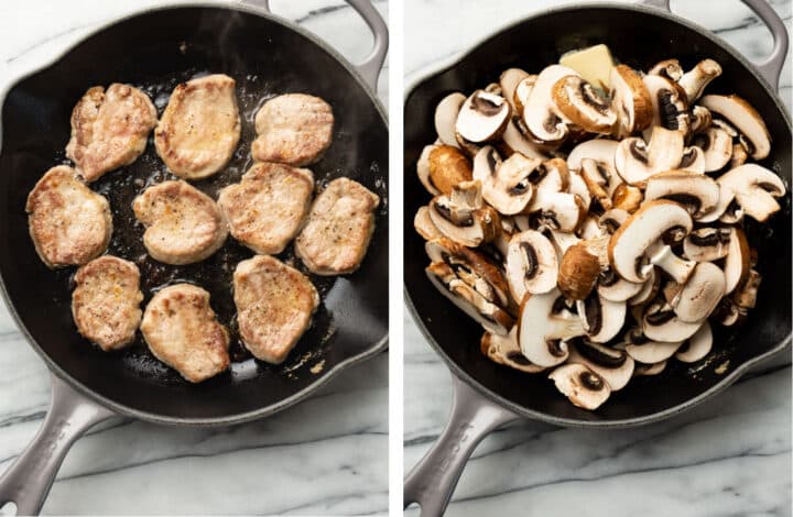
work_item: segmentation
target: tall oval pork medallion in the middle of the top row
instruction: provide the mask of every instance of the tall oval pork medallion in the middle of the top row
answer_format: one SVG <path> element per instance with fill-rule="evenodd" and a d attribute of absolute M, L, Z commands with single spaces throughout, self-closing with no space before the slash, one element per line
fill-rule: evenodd
<path fill-rule="evenodd" d="M 154 130 L 156 152 L 184 179 L 202 179 L 231 160 L 240 139 L 235 80 L 222 74 L 178 85 Z"/>

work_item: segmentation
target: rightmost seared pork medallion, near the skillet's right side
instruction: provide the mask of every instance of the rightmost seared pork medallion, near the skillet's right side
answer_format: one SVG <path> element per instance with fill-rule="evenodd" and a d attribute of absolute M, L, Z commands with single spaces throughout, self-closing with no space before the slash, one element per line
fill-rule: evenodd
<path fill-rule="evenodd" d="M 317 275 L 352 273 L 366 255 L 379 204 L 358 182 L 334 179 L 314 201 L 295 253 Z"/>

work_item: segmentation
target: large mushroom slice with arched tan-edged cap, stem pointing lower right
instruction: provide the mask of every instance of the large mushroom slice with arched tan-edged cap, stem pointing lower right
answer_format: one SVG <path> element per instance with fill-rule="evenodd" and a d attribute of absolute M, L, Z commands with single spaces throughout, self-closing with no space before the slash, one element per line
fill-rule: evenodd
<path fill-rule="evenodd" d="M 680 238 L 675 241 L 682 240 L 691 232 L 692 227 L 691 215 L 676 202 L 665 199 L 649 201 L 611 235 L 609 243 L 611 266 L 622 278 L 637 284 L 648 279 L 652 264 L 669 268 L 667 273 L 677 274 L 678 272 L 673 267 L 675 264 L 670 257 L 671 252 L 650 249 L 670 233 Z M 648 256 L 648 251 L 654 256 Z M 685 279 L 681 283 L 683 282 Z"/>

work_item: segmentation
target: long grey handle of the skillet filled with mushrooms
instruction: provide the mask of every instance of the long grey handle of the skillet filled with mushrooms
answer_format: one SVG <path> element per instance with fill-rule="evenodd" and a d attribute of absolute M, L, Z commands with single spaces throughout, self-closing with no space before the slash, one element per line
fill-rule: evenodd
<path fill-rule="evenodd" d="M 493 429 L 520 418 L 452 376 L 452 416 L 441 437 L 408 474 L 404 506 L 421 505 L 421 517 L 439 517 L 452 499 L 474 449 Z"/>

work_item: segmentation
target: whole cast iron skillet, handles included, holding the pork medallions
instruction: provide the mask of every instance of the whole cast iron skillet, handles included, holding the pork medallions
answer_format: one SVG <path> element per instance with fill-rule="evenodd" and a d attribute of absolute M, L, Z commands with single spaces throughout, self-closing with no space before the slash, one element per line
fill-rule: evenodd
<path fill-rule="evenodd" d="M 174 425 L 229 425 L 271 415 L 308 396 L 345 367 L 387 346 L 388 127 L 373 89 L 385 56 L 388 30 L 368 0 L 349 0 L 374 33 L 374 48 L 352 67 L 311 34 L 256 6 L 155 9 L 112 23 L 61 58 L 15 82 L 2 105 L 0 151 L 0 276 L 6 301 L 28 341 L 53 373 L 53 403 L 33 443 L 0 479 L 0 506 L 35 514 L 70 443 L 115 414 Z M 177 82 L 225 73 L 237 80 L 242 140 L 230 165 L 195 185 L 216 191 L 251 164 L 253 113 L 263 98 L 301 91 L 334 108 L 334 142 L 311 168 L 319 185 L 346 175 L 382 198 L 377 230 L 361 268 L 338 278 L 312 276 L 323 304 L 313 327 L 279 366 L 254 361 L 235 329 L 230 276 L 252 252 L 229 239 L 199 264 L 173 267 L 145 256 L 130 204 L 150 183 L 170 175 L 149 144 L 133 165 L 93 185 L 113 209 L 110 253 L 138 262 L 144 304 L 157 286 L 187 280 L 211 294 L 232 333 L 230 372 L 191 385 L 155 361 L 139 338 L 121 353 L 102 353 L 82 339 L 69 310 L 69 276 L 53 273 L 35 254 L 25 197 L 51 166 L 64 160 L 69 114 L 94 85 L 130 82 L 149 92 L 160 111 Z M 281 255 L 290 260 L 287 250 Z M 295 261 L 297 267 L 301 262 Z M 305 271 L 305 270 L 304 270 Z M 321 371 L 312 372 L 319 365 Z"/>

